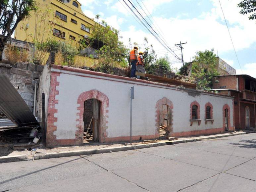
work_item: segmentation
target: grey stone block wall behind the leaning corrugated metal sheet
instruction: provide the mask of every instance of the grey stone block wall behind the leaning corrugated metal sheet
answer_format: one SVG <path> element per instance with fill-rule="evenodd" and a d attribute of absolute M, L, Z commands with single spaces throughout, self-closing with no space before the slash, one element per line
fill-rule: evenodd
<path fill-rule="evenodd" d="M 34 104 L 35 83 L 38 84 L 43 67 L 32 63 L 17 63 L 16 65 L 0 63 L 0 74 L 5 74 L 10 79 L 31 111 Z"/>

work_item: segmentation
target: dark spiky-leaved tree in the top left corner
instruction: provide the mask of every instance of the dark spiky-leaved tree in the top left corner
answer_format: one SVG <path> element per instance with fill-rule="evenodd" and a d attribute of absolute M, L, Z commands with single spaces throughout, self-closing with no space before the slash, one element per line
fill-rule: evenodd
<path fill-rule="evenodd" d="M 0 1 L 0 59 L 2 59 L 4 47 L 18 23 L 29 18 L 30 12 L 35 9 L 34 0 Z"/>

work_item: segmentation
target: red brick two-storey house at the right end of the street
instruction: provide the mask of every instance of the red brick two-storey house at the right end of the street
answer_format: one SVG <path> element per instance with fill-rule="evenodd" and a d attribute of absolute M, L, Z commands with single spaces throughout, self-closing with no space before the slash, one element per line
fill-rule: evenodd
<path fill-rule="evenodd" d="M 256 79 L 249 75 L 219 75 L 212 90 L 234 97 L 235 127 L 256 128 Z"/>

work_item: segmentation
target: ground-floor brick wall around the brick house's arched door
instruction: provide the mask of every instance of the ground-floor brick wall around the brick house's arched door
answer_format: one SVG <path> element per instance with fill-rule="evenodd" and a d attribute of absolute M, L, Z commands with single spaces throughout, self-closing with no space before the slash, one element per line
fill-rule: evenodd
<path fill-rule="evenodd" d="M 241 114 L 241 129 L 245 129 L 245 107 L 248 106 L 250 109 L 250 126 L 255 127 L 255 114 L 254 114 L 254 105 L 249 103 L 240 102 L 240 114 Z"/>

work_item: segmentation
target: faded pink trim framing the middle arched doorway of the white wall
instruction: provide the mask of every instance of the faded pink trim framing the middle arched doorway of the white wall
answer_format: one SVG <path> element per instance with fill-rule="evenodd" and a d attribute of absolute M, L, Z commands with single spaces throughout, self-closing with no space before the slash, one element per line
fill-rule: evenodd
<path fill-rule="evenodd" d="M 162 99 L 159 99 L 156 102 L 156 134 L 159 135 L 159 129 L 160 129 L 160 108 L 162 105 L 168 105 L 170 109 L 170 115 L 171 115 L 171 122 L 169 122 L 169 126 L 167 127 L 167 134 L 168 136 L 173 132 L 173 102 L 171 102 L 166 97 L 163 97 Z M 170 118 L 169 118 L 170 120 Z"/>

